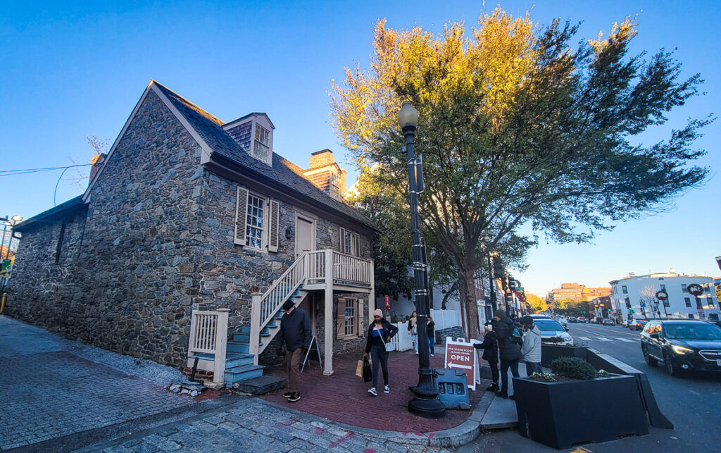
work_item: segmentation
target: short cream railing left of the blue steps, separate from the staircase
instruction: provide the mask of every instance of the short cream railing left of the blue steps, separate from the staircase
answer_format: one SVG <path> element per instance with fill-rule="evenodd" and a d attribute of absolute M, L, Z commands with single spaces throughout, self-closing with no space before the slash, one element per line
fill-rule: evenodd
<path fill-rule="evenodd" d="M 198 353 L 213 354 L 213 384 L 225 385 L 226 340 L 228 338 L 227 308 L 217 311 L 193 310 L 190 317 L 188 357 Z"/>

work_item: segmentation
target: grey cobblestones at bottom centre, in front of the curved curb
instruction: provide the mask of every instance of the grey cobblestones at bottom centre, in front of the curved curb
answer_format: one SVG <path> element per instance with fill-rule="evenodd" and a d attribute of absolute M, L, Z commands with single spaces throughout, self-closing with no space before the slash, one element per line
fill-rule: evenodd
<path fill-rule="evenodd" d="M 358 415 L 363 416 L 358 408 Z M 83 452 L 446 452 L 340 428 L 326 418 L 257 398 L 209 411 Z"/>

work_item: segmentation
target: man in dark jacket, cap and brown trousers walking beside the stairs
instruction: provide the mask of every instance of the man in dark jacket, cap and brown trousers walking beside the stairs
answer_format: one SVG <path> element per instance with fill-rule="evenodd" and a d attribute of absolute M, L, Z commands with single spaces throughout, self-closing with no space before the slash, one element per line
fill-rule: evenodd
<path fill-rule="evenodd" d="M 310 347 L 311 320 L 302 308 L 296 307 L 292 300 L 283 304 L 283 311 L 286 312 L 280 318 L 280 332 L 278 332 L 279 348 L 285 346 L 286 371 L 288 372 L 288 392 L 283 396 L 288 401 L 295 403 L 301 399 L 301 353 Z"/>

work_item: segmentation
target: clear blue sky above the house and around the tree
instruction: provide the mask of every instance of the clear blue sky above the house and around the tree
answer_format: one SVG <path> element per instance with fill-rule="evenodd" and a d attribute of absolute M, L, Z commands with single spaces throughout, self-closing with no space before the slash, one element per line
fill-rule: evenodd
<path fill-rule="evenodd" d="M 72 3 L 67 5 L 64 3 Z M 719 114 L 721 23 L 717 1 L 501 1 L 510 13 L 532 9 L 536 22 L 583 21 L 578 38 L 606 35 L 611 23 L 638 14 L 634 50 L 677 48 L 684 75 L 706 80 L 707 94 L 673 113 Z M 487 2 L 490 10 L 495 3 Z M 345 150 L 329 126 L 331 79 L 344 66 L 367 68 L 373 24 L 441 30 L 448 21 L 474 25 L 480 1 L 98 1 L 0 4 L 0 170 L 85 163 L 85 136 L 110 144 L 149 80 L 156 79 L 223 120 L 264 111 L 276 126 L 275 151 L 303 167 L 312 151 Z M 663 138 L 651 133 L 648 141 Z M 645 216 L 602 232 L 593 245 L 541 245 L 518 275 L 544 294 L 565 281 L 603 286 L 629 271 L 720 275 L 718 149 L 721 121 L 698 146 L 712 167 L 703 188 L 678 198 L 665 214 Z M 355 174 L 349 164 L 350 183 Z M 0 177 L 0 214 L 30 217 L 53 206 L 59 171 Z M 82 192 L 68 170 L 58 203 Z M 87 184 L 86 181 L 82 182 Z"/>

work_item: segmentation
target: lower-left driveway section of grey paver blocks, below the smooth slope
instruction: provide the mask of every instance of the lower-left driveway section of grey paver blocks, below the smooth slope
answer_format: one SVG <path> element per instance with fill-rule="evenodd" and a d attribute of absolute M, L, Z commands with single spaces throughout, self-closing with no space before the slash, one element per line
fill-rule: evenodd
<path fill-rule="evenodd" d="M 66 351 L 0 356 L 0 450 L 195 403 Z"/>

